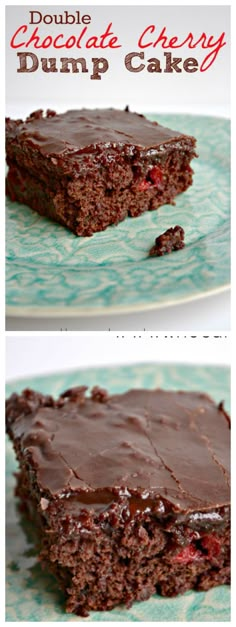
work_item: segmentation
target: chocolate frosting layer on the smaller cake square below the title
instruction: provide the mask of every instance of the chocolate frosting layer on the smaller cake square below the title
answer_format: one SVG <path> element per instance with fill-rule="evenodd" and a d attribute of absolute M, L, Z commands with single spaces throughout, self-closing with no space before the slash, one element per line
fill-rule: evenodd
<path fill-rule="evenodd" d="M 8 139 L 37 147 L 45 156 L 93 152 L 100 147 L 140 147 L 161 152 L 165 146 L 184 141 L 193 148 L 195 140 L 177 131 L 150 122 L 143 115 L 116 109 L 81 109 L 56 114 L 39 110 L 25 122 L 7 119 Z"/>

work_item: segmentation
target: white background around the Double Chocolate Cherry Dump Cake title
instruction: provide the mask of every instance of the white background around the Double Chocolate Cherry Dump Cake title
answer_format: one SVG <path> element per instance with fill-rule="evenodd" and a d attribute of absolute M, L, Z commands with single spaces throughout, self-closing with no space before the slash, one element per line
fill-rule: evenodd
<path fill-rule="evenodd" d="M 89 14 L 92 18 L 86 37 L 101 35 L 109 22 L 122 45 L 117 50 L 86 49 L 82 40 L 81 49 L 67 50 L 48 49 L 35 50 L 32 45 L 22 46 L 17 50 L 10 47 L 10 40 L 20 25 L 27 26 L 25 35 L 19 35 L 18 42 L 26 42 L 27 37 L 38 27 L 40 37 L 59 33 L 65 34 L 65 39 L 71 35 L 76 37 L 82 31 L 83 25 L 29 25 L 29 10 L 39 11 L 42 15 L 63 14 L 64 10 L 75 13 L 79 9 L 81 14 Z M 7 115 L 26 115 L 35 108 L 56 108 L 63 111 L 67 108 L 91 107 L 121 107 L 129 104 L 131 110 L 140 112 L 159 111 L 195 111 L 216 112 L 229 115 L 229 88 L 230 88 L 230 8 L 227 6 L 100 6 L 100 5 L 24 5 L 8 6 L 6 10 L 6 58 L 7 81 L 6 102 Z M 178 36 L 182 43 L 188 33 L 193 33 L 195 41 L 202 33 L 214 41 L 225 32 L 227 45 L 224 46 L 212 67 L 206 72 L 195 73 L 149 73 L 144 69 L 139 73 L 131 73 L 125 69 L 124 57 L 129 52 L 138 52 L 137 41 L 139 36 L 149 25 L 155 25 L 156 30 L 148 41 L 155 40 L 162 28 L 166 26 L 167 36 Z M 155 37 L 156 35 L 156 37 Z M 147 41 L 147 39 L 145 39 Z M 58 72 L 45 73 L 37 70 L 32 73 L 17 73 L 19 61 L 17 52 L 34 52 L 38 58 L 55 57 Z M 149 47 L 145 50 L 145 60 L 157 57 L 163 62 L 165 50 L 160 47 Z M 197 58 L 200 62 L 207 52 L 201 47 L 189 49 L 187 45 L 172 51 L 172 56 L 186 59 Z M 60 73 L 61 57 L 84 57 L 88 73 L 65 74 Z M 109 70 L 102 75 L 101 80 L 91 80 L 92 57 L 105 57 L 109 61 Z M 164 59 L 165 60 L 165 59 Z M 163 67 L 164 70 L 164 67 Z"/>

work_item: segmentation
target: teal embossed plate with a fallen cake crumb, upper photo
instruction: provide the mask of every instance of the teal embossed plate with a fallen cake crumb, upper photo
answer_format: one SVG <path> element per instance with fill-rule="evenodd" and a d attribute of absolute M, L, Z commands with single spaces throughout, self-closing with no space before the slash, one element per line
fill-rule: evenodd
<path fill-rule="evenodd" d="M 97 315 L 173 305 L 230 282 L 230 123 L 190 115 L 150 116 L 197 138 L 194 183 L 176 205 L 75 237 L 7 199 L 7 314 Z M 180 224 L 183 250 L 150 258 L 157 235 Z"/>

